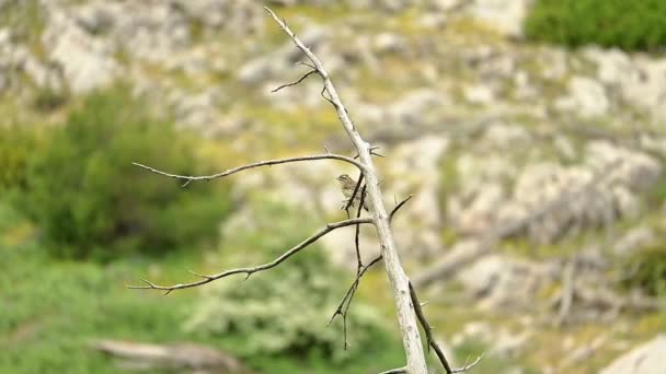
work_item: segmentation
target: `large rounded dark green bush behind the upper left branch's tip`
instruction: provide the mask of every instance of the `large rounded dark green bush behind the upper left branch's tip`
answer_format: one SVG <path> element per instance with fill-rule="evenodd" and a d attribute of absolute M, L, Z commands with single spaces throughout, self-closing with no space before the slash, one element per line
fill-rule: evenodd
<path fill-rule="evenodd" d="M 196 140 L 147 114 L 124 87 L 91 95 L 34 151 L 18 203 L 49 252 L 107 260 L 130 252 L 188 249 L 217 233 L 227 184 L 192 184 L 134 166 L 200 173 Z M 217 190 L 215 189 L 217 188 Z"/>

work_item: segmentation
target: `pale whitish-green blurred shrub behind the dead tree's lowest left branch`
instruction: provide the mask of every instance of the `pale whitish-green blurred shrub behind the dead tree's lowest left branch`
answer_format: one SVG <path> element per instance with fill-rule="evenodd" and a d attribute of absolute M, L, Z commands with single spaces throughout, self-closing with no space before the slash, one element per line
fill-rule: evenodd
<path fill-rule="evenodd" d="M 233 238 L 227 237 L 231 242 L 225 253 L 242 254 L 237 266 L 273 260 L 313 233 L 303 226 L 298 213 L 279 204 L 263 203 L 252 220 L 252 225 L 240 222 Z M 343 349 L 342 319 L 326 326 L 351 278 L 312 245 L 248 280 L 237 276 L 205 288 L 187 329 L 220 338 L 237 336 L 248 357 L 317 357 L 338 363 L 353 354 L 371 357 L 371 352 L 386 349 L 388 335 L 381 316 L 358 299 L 347 318 L 348 341 L 355 349 Z"/>

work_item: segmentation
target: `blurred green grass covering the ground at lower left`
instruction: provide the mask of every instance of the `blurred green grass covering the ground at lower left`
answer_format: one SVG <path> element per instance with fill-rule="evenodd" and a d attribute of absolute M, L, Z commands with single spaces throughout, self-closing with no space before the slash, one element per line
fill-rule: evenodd
<path fill-rule="evenodd" d="M 112 359 L 89 347 L 100 338 L 198 342 L 240 357 L 260 373 L 379 372 L 403 360 L 398 338 L 378 355 L 359 354 L 335 365 L 317 353 L 299 359 L 242 357 L 239 337 L 208 338 L 182 328 L 198 292 L 163 296 L 124 285 L 140 277 L 156 282 L 186 280 L 186 268 L 215 268 L 204 264 L 204 257 L 210 261 L 214 256 L 182 250 L 108 265 L 59 261 L 45 255 L 35 236 L 19 213 L 0 203 L 0 373 L 118 373 Z"/>

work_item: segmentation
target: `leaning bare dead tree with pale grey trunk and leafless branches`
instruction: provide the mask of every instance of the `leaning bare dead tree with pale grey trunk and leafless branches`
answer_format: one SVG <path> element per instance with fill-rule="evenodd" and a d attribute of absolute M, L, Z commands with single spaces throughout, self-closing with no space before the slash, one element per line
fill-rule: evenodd
<path fill-rule="evenodd" d="M 381 194 L 379 176 L 372 164 L 372 155 L 379 155 L 378 153 L 376 153 L 377 148 L 372 147 L 368 142 L 366 142 L 358 133 L 356 126 L 349 118 L 347 109 L 345 108 L 340 96 L 337 95 L 337 91 L 333 86 L 333 82 L 331 81 L 329 73 L 324 69 L 324 66 L 319 60 L 319 58 L 317 58 L 317 56 L 314 56 L 314 54 L 301 43 L 301 40 L 289 28 L 289 26 L 287 26 L 287 23 L 285 20 L 279 19 L 271 9 L 265 8 L 265 10 L 273 17 L 273 20 L 279 25 L 279 27 L 289 36 L 289 38 L 294 42 L 296 47 L 298 49 L 300 49 L 307 57 L 308 61 L 300 62 L 300 65 L 308 67 L 310 69 L 300 79 L 298 79 L 291 83 L 284 84 L 279 87 L 275 89 L 274 92 L 285 89 L 285 87 L 297 85 L 298 83 L 302 82 L 310 75 L 319 75 L 323 82 L 323 89 L 321 91 L 321 96 L 323 98 L 325 98 L 335 108 L 335 112 L 337 113 L 337 117 L 338 117 L 343 128 L 345 129 L 345 131 L 347 132 L 347 136 L 349 137 L 349 140 L 356 148 L 356 152 L 357 152 L 356 156 L 349 157 L 346 155 L 333 154 L 326 149 L 326 153 L 323 153 L 323 154 L 261 161 L 261 162 L 256 162 L 256 163 L 252 163 L 252 164 L 242 165 L 242 166 L 239 166 L 236 168 L 231 168 L 231 170 L 228 170 L 222 173 L 218 173 L 218 174 L 214 174 L 214 175 L 205 175 L 205 176 L 175 175 L 175 174 L 170 174 L 170 173 L 165 173 L 162 171 L 158 171 L 150 166 L 146 166 L 146 165 L 141 165 L 141 164 L 136 164 L 136 165 L 143 167 L 150 172 L 163 175 L 163 176 L 184 180 L 183 186 L 186 186 L 192 182 L 221 178 L 221 177 L 225 177 L 225 176 L 238 173 L 238 172 L 242 172 L 242 171 L 245 171 L 249 168 L 254 168 L 254 167 L 260 167 L 260 166 L 276 165 L 276 164 L 300 162 L 300 161 L 337 160 L 337 161 L 346 162 L 351 165 L 354 165 L 359 171 L 359 177 L 357 180 L 357 185 L 354 189 L 354 194 L 353 194 L 352 198 L 347 200 L 347 203 L 344 207 L 348 213 L 348 209 L 349 209 L 352 202 L 357 197 L 357 194 L 360 194 L 360 199 L 363 199 L 363 200 L 358 204 L 358 211 L 357 211 L 356 218 L 353 218 L 353 219 L 349 218 L 344 221 L 326 224 L 322 230 L 320 230 L 312 236 L 306 238 L 303 242 L 296 245 L 291 249 L 287 250 L 286 253 L 284 253 L 282 256 L 279 256 L 275 260 L 264 264 L 264 265 L 227 270 L 227 271 L 219 272 L 217 274 L 200 274 L 200 273 L 191 271 L 194 276 L 198 277 L 199 280 L 190 282 L 190 283 L 180 283 L 180 284 L 173 284 L 173 285 L 158 285 L 148 280 L 142 280 L 146 283 L 146 285 L 130 285 L 129 288 L 161 290 L 164 292 L 164 294 L 169 294 L 170 292 L 172 292 L 174 290 L 181 290 L 181 289 L 203 285 L 203 284 L 213 282 L 215 280 L 218 280 L 220 278 L 225 278 L 225 277 L 232 276 L 232 274 L 243 273 L 243 274 L 245 274 L 246 278 L 249 278 L 254 272 L 268 270 L 271 268 L 274 268 L 274 267 L 280 265 L 283 261 L 287 260 L 289 257 L 291 257 L 291 256 L 296 255 L 298 252 L 307 248 L 310 244 L 314 243 L 315 241 L 318 241 L 319 238 L 321 238 L 322 236 L 326 235 L 328 233 L 330 233 L 334 230 L 355 225 L 356 226 L 355 244 L 356 244 L 356 254 L 357 254 L 356 279 L 349 287 L 349 289 L 348 289 L 347 293 L 344 295 L 338 308 L 334 312 L 333 317 L 331 318 L 331 320 L 332 320 L 338 315 L 342 316 L 342 318 L 343 318 L 343 328 L 345 331 L 345 348 L 346 348 L 346 314 L 347 314 L 347 311 L 352 303 L 352 299 L 354 297 L 354 293 L 359 285 L 360 278 L 371 266 L 379 262 L 380 260 L 383 260 L 386 271 L 387 271 L 387 274 L 390 280 L 391 291 L 393 293 L 393 296 L 395 297 L 398 323 L 400 325 L 400 330 L 402 334 L 402 342 L 403 342 L 405 357 L 406 357 L 406 365 L 404 367 L 394 369 L 389 372 L 390 373 L 410 373 L 410 374 L 426 374 L 427 373 L 426 359 L 425 359 L 425 354 L 424 354 L 424 350 L 423 350 L 423 346 L 422 346 L 422 341 L 421 341 L 421 336 L 418 332 L 417 320 L 421 323 L 421 326 L 424 328 L 428 349 L 433 348 L 435 350 L 439 361 L 441 362 L 441 364 L 447 373 L 459 373 L 459 372 L 469 370 L 476 362 L 479 362 L 479 360 L 481 358 L 476 359 L 473 363 L 471 363 L 469 365 L 464 365 L 463 367 L 451 369 L 451 366 L 449 365 L 447 359 L 445 358 L 441 349 L 437 346 L 435 339 L 432 336 L 432 329 L 430 329 L 428 323 L 426 322 L 423 311 L 421 308 L 421 304 L 418 303 L 418 300 L 416 299 L 416 291 L 410 283 L 410 280 L 409 280 L 406 273 L 404 272 L 402 265 L 400 264 L 398 248 L 395 247 L 395 242 L 393 239 L 393 234 L 391 232 L 391 219 L 392 219 L 393 214 L 401 207 L 403 207 L 404 203 L 410 198 L 406 198 L 405 200 L 403 200 L 402 202 L 397 204 L 397 207 L 390 213 L 387 212 L 387 208 L 384 206 L 382 194 Z M 365 202 L 367 202 L 367 206 L 369 208 L 369 214 L 370 214 L 369 218 L 360 217 L 360 209 L 364 206 L 364 200 L 365 200 Z M 375 226 L 376 232 L 377 232 L 377 237 L 378 237 L 379 244 L 381 246 L 381 254 L 379 255 L 379 257 L 375 258 L 367 265 L 364 265 L 361 262 L 360 249 L 358 246 L 358 231 L 359 231 L 360 224 L 371 224 Z"/>

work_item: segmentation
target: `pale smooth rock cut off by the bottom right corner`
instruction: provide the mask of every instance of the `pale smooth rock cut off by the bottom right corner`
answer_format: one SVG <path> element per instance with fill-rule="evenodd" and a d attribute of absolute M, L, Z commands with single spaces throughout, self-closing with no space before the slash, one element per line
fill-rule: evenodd
<path fill-rule="evenodd" d="M 664 374 L 666 373 L 665 353 L 666 336 L 659 335 L 653 340 L 634 348 L 629 353 L 621 355 L 599 373 Z"/>

